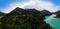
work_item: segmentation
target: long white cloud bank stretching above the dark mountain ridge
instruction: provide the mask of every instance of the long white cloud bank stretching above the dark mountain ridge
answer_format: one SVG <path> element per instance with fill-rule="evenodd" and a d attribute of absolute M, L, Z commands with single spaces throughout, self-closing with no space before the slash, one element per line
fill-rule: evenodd
<path fill-rule="evenodd" d="M 30 0 L 28 2 L 16 2 L 16 3 L 11 3 L 9 5 L 9 7 L 5 8 L 5 12 L 8 13 L 10 11 L 12 11 L 14 8 L 16 7 L 20 7 L 20 8 L 35 8 L 37 10 L 43 10 L 46 9 L 50 12 L 55 12 L 57 11 L 57 7 L 48 1 L 44 1 L 44 0 Z"/>

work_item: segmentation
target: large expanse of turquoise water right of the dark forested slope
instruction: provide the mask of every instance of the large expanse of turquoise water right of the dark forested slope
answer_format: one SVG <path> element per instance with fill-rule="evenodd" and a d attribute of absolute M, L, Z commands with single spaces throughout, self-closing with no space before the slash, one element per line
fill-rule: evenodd
<path fill-rule="evenodd" d="M 60 29 L 60 18 L 55 18 L 55 15 L 45 16 L 45 22 L 50 24 L 54 29 Z"/>

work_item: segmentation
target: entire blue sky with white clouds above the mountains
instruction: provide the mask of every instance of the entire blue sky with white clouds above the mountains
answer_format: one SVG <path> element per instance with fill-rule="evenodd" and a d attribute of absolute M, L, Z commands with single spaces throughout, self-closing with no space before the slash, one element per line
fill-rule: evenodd
<path fill-rule="evenodd" d="M 0 0 L 0 12 L 9 13 L 16 7 L 56 12 L 60 10 L 60 0 Z"/>

